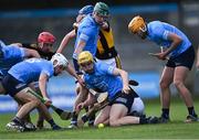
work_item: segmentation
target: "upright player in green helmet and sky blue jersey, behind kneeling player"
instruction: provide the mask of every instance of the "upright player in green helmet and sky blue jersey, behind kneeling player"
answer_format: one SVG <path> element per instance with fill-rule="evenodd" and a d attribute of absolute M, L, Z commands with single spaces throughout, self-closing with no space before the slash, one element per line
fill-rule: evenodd
<path fill-rule="evenodd" d="M 108 18 L 108 6 L 104 2 L 97 2 L 92 14 L 86 15 L 77 28 L 75 51 L 73 53 L 73 62 L 75 69 L 78 72 L 77 56 L 82 51 L 90 51 L 95 55 L 97 50 L 97 40 L 100 25 Z"/>

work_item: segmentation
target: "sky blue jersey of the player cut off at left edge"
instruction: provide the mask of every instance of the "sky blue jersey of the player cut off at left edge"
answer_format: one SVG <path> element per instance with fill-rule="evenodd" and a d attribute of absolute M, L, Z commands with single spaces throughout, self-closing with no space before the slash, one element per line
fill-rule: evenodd
<path fill-rule="evenodd" d="M 3 53 L 0 56 L 0 74 L 4 76 L 11 66 L 23 61 L 24 50 L 17 45 L 6 45 L 2 41 L 0 41 L 0 50 Z"/>

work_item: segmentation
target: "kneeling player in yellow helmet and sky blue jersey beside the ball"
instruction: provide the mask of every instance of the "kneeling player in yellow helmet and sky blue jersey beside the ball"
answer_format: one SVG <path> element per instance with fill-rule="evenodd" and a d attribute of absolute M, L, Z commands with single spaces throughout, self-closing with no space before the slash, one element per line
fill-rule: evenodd
<path fill-rule="evenodd" d="M 148 123 L 150 120 L 144 116 L 144 103 L 128 85 L 128 73 L 107 65 L 103 62 L 94 62 L 90 52 L 85 51 L 78 55 L 78 64 L 84 74 L 84 80 L 88 88 L 108 93 L 109 105 L 101 110 L 94 125 L 106 123 L 112 127 Z M 81 93 L 82 94 L 82 93 Z M 93 103 L 88 98 L 78 107 L 86 107 Z M 127 116 L 136 114 L 137 116 Z"/>

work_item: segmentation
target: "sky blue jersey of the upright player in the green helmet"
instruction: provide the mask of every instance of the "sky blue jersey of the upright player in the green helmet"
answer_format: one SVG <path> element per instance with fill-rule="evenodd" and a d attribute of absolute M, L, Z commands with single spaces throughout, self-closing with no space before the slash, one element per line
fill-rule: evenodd
<path fill-rule="evenodd" d="M 86 42 L 83 51 L 88 51 L 95 56 L 97 40 L 98 40 L 100 25 L 95 22 L 91 14 L 85 17 L 77 29 L 75 49 L 81 40 Z M 75 54 L 73 54 L 75 56 Z M 74 57 L 75 58 L 75 57 Z"/>

